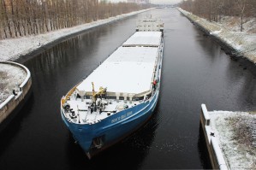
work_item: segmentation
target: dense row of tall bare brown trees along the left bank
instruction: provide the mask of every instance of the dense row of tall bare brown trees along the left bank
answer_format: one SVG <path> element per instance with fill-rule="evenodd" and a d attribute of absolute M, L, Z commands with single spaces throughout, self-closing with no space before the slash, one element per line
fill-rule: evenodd
<path fill-rule="evenodd" d="M 0 39 L 50 32 L 146 9 L 99 0 L 0 0 Z"/>

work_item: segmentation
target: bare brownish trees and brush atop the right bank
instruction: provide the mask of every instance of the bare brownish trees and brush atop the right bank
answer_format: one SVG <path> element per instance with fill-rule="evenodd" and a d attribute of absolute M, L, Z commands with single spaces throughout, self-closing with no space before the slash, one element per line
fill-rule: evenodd
<path fill-rule="evenodd" d="M 223 15 L 238 16 L 241 32 L 244 17 L 256 17 L 255 0 L 183 0 L 180 7 L 208 21 L 220 21 Z"/>

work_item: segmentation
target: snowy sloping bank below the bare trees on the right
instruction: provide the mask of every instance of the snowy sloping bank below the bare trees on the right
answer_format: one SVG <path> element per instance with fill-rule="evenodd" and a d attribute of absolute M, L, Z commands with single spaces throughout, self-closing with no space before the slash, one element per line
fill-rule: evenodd
<path fill-rule="evenodd" d="M 244 23 L 244 31 L 240 32 L 239 19 L 235 17 L 223 17 L 221 22 L 210 22 L 183 9 L 178 9 L 199 26 L 202 26 L 211 35 L 221 39 L 237 50 L 237 55 L 245 56 L 256 63 L 256 24 L 255 19 L 247 18 Z"/>

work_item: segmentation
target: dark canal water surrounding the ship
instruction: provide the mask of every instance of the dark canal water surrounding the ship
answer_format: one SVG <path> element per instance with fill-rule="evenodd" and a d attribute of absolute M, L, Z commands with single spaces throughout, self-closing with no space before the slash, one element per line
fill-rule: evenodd
<path fill-rule="evenodd" d="M 164 66 L 152 120 L 88 161 L 64 126 L 60 99 L 135 30 L 138 18 L 164 21 Z M 176 9 L 155 9 L 95 28 L 24 64 L 33 96 L 0 136 L 0 169 L 211 168 L 199 131 L 200 104 L 209 110 L 255 110 L 256 75 L 234 62 Z"/>

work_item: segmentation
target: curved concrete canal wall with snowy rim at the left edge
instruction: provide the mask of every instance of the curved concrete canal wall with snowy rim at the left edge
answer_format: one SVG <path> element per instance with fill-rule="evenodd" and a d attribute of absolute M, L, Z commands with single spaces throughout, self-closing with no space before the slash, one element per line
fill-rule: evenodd
<path fill-rule="evenodd" d="M 27 67 L 16 62 L 0 62 L 3 64 L 9 64 L 15 67 L 23 69 L 27 76 L 19 85 L 19 91 L 15 91 L 16 95 L 10 95 L 3 103 L 0 104 L 0 132 L 8 125 L 9 121 L 19 112 L 24 103 L 26 103 L 28 97 L 31 94 L 32 79 L 31 73 Z M 11 78 L 10 78 L 11 79 Z"/>

